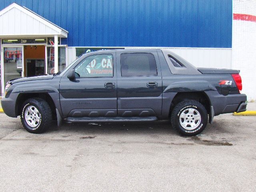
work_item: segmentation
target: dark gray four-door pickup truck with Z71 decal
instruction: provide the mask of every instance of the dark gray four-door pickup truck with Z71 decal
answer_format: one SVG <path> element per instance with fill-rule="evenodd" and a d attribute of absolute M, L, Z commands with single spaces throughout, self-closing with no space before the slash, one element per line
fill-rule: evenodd
<path fill-rule="evenodd" d="M 238 70 L 196 68 L 169 50 L 86 53 L 62 72 L 10 80 L 1 104 L 31 133 L 57 120 L 171 120 L 182 135 L 199 134 L 213 117 L 246 110 Z"/>

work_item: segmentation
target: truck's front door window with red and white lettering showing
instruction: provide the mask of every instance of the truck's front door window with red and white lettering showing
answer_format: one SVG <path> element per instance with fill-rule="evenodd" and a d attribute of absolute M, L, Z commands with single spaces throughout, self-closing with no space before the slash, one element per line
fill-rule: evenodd
<path fill-rule="evenodd" d="M 111 54 L 88 56 L 75 68 L 76 78 L 113 77 L 113 56 Z"/>

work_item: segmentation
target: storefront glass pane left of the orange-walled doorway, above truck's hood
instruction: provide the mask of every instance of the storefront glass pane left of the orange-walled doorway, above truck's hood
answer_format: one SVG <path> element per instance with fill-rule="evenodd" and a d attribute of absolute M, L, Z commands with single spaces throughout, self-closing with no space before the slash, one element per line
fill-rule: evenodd
<path fill-rule="evenodd" d="M 21 78 L 23 73 L 23 46 L 3 47 L 4 86 L 12 79 Z"/>

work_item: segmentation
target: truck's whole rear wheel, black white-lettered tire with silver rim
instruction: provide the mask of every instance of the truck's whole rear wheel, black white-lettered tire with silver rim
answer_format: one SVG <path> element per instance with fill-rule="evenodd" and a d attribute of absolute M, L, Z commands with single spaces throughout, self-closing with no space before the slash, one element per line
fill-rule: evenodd
<path fill-rule="evenodd" d="M 198 116 L 198 113 L 199 113 L 199 116 Z M 182 118 L 181 115 L 184 118 Z M 195 116 L 198 117 L 198 119 L 200 120 L 196 120 Z M 207 122 L 208 122 L 207 111 L 205 107 L 198 101 L 186 100 L 186 101 L 179 102 L 172 110 L 172 114 L 171 114 L 172 126 L 181 135 L 195 136 L 204 130 L 204 128 L 207 125 Z M 183 126 L 181 123 L 183 124 Z"/>

